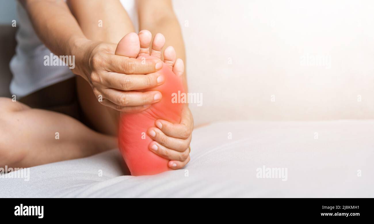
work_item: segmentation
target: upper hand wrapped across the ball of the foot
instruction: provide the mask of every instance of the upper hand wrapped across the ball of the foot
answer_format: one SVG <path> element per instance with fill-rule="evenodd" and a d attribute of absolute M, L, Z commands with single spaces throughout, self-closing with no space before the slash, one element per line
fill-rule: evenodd
<path fill-rule="evenodd" d="M 161 100 L 159 91 L 133 91 L 163 84 L 164 77 L 156 73 L 162 68 L 160 60 L 149 59 L 144 63 L 141 59 L 114 55 L 114 43 L 89 41 L 85 46 L 76 66 L 77 74 L 88 81 L 101 104 L 117 111 L 138 112 Z"/>

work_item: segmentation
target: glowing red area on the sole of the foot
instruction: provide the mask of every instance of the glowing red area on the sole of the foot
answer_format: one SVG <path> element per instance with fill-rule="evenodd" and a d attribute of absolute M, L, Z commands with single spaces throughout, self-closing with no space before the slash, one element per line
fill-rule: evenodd
<path fill-rule="evenodd" d="M 142 56 L 146 59 L 156 58 Z M 130 169 L 131 175 L 154 175 L 172 170 L 168 166 L 169 160 L 150 151 L 153 139 L 148 136 L 147 130 L 156 127 L 155 121 L 163 119 L 172 123 L 179 123 L 183 103 L 176 103 L 175 94 L 184 93 L 181 76 L 175 75 L 164 63 L 157 73 L 165 77 L 165 82 L 155 88 L 141 91 L 157 90 L 162 93 L 160 102 L 154 103 L 150 108 L 137 113 L 122 113 L 119 124 L 119 148 Z"/>

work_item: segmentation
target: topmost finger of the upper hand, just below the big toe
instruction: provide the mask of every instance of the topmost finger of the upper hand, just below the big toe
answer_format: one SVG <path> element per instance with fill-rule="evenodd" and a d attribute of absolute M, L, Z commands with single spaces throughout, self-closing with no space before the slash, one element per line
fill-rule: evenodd
<path fill-rule="evenodd" d="M 149 74 L 160 70 L 162 61 L 157 59 L 136 59 L 114 54 L 107 56 L 108 72 L 123 74 Z"/>

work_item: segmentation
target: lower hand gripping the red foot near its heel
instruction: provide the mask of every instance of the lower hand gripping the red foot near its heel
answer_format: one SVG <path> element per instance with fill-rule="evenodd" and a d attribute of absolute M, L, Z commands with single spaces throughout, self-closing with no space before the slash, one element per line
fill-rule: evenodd
<path fill-rule="evenodd" d="M 157 155 L 169 159 L 168 166 L 181 169 L 190 161 L 190 145 L 193 130 L 193 117 L 187 105 L 182 111 L 180 124 L 158 119 L 156 127 L 148 129 L 148 134 L 154 140 L 149 149 Z"/>

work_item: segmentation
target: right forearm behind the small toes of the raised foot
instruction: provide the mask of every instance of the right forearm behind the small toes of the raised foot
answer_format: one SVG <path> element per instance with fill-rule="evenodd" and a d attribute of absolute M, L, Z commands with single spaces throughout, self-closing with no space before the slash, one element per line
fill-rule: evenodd
<path fill-rule="evenodd" d="M 165 46 L 173 46 L 177 58 L 184 61 L 186 68 L 186 51 L 184 48 L 181 28 L 173 11 L 171 2 L 165 1 L 138 1 L 140 30 L 149 30 L 152 35 L 162 33 L 165 36 Z M 183 75 L 184 88 L 187 91 L 186 69 Z"/>

